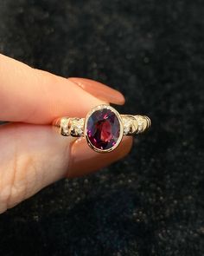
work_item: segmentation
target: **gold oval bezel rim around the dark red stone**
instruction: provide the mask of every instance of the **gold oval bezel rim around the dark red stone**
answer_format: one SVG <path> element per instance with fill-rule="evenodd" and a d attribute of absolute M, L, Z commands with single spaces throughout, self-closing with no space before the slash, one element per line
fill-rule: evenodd
<path fill-rule="evenodd" d="M 90 138 L 88 136 L 88 128 L 87 128 L 87 125 L 88 125 L 88 121 L 89 121 L 89 118 L 92 116 L 92 114 L 96 111 L 99 111 L 99 110 L 103 110 L 103 109 L 107 109 L 107 110 L 111 110 L 112 113 L 114 115 L 116 115 L 117 119 L 118 119 L 118 123 L 119 123 L 119 136 L 118 136 L 118 139 L 116 141 L 116 143 L 111 147 L 111 148 L 107 148 L 107 149 L 100 149 L 100 148 L 97 148 L 95 147 L 93 144 L 92 144 L 92 141 L 90 141 Z M 113 124 L 114 125 L 114 124 Z M 90 148 L 92 148 L 94 151 L 96 152 L 99 152 L 99 153 L 106 153 L 106 152 L 111 152 L 112 150 L 114 150 L 115 148 L 118 147 L 119 143 L 122 141 L 123 139 L 123 135 L 124 135 L 124 126 L 123 126 L 123 121 L 118 113 L 118 111 L 115 109 L 115 108 L 112 108 L 111 106 L 109 105 L 99 105 L 95 108 L 92 108 L 91 111 L 89 111 L 89 113 L 86 115 L 86 121 L 85 121 L 85 127 L 84 127 L 84 135 L 86 136 L 86 141 L 89 145 Z"/>

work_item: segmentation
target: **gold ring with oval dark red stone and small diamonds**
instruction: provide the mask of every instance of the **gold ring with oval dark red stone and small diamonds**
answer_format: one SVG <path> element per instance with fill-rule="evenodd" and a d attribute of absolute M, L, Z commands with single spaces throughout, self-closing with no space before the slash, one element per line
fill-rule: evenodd
<path fill-rule="evenodd" d="M 61 117 L 54 120 L 54 128 L 63 136 L 86 137 L 96 152 L 111 152 L 118 147 L 124 135 L 137 135 L 150 128 L 146 115 L 119 115 L 109 105 L 99 105 L 86 118 Z"/>

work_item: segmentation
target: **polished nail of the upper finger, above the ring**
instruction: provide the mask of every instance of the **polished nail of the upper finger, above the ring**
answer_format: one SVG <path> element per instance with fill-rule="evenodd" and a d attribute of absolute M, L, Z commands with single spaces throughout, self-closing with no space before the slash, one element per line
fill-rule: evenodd
<path fill-rule="evenodd" d="M 122 95 L 118 90 L 112 89 L 101 82 L 77 77 L 71 77 L 68 79 L 102 101 L 111 102 L 118 105 L 124 104 L 124 95 Z"/>

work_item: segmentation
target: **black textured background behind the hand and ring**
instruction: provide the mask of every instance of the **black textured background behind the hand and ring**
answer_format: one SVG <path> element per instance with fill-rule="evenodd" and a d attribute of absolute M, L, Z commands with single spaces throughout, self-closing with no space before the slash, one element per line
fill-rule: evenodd
<path fill-rule="evenodd" d="M 0 255 L 204 255 L 204 2 L 1 0 L 0 51 L 150 115 L 131 154 L 0 216 Z"/>

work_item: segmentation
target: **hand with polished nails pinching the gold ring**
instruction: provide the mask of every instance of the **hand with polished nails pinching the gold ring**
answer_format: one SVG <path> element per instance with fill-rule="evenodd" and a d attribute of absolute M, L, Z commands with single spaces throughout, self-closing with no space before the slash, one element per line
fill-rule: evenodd
<path fill-rule="evenodd" d="M 92 151 L 85 139 L 54 133 L 59 116 L 86 116 L 101 103 L 124 96 L 99 82 L 66 79 L 0 55 L 0 213 L 63 177 L 88 174 L 124 157 L 131 137 L 109 154 Z"/>

